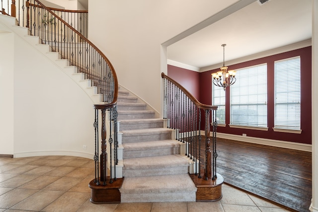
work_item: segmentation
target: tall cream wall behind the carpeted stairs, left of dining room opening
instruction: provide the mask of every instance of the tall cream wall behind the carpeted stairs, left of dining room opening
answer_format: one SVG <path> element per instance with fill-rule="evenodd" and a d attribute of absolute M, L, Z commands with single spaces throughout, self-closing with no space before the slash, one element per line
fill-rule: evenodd
<path fill-rule="evenodd" d="M 160 44 L 233 2 L 89 0 L 89 40 L 111 61 L 119 84 L 160 111 L 160 73 L 166 71 Z"/>

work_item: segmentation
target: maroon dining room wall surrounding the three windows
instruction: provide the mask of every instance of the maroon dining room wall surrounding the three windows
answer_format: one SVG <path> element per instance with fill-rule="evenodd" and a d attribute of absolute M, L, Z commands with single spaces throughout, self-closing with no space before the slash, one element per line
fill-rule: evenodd
<path fill-rule="evenodd" d="M 274 62 L 291 57 L 301 57 L 301 134 L 274 132 Z M 230 128 L 230 89 L 226 90 L 226 127 L 218 127 L 220 133 L 242 135 L 249 137 L 273 139 L 279 141 L 292 141 L 299 143 L 312 143 L 312 48 L 306 47 L 282 54 L 277 54 L 265 58 L 260 58 L 229 67 L 231 70 L 267 63 L 267 126 L 268 131 L 247 130 Z M 201 73 L 189 71 L 168 65 L 168 75 L 182 84 L 192 93 L 201 103 L 212 104 L 212 77 L 211 73 L 219 71 L 211 70 Z M 288 82 L 286 82 L 288 83 Z M 195 87 L 197 86 L 197 87 Z"/>

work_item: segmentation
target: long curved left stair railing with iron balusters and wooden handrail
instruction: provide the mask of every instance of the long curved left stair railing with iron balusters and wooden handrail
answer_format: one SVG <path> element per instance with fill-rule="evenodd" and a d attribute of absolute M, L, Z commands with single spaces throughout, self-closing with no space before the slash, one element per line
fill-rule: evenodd
<path fill-rule="evenodd" d="M 81 16 L 78 16 L 77 20 L 73 19 L 73 12 L 60 13 L 59 9 L 48 8 L 39 0 L 26 0 L 25 5 L 26 27 L 29 28 L 31 35 L 38 36 L 42 44 L 50 45 L 52 51 L 58 52 L 62 59 L 67 59 L 71 66 L 76 66 L 78 72 L 84 73 L 85 79 L 90 80 L 91 86 L 97 87 L 97 93 L 102 94 L 103 103 L 93 106 L 95 109 L 93 124 L 95 178 L 93 182 L 96 185 L 106 185 L 106 181 L 109 180 L 111 183 L 116 180 L 116 171 L 113 174 L 112 170 L 116 170 L 118 164 L 116 72 L 106 56 L 83 34 L 85 32 L 87 35 L 87 27 L 81 33 L 74 28 L 79 29 L 82 26 Z M 98 114 L 101 114 L 100 118 Z M 99 135 L 101 143 L 99 143 Z M 107 139 L 109 149 L 106 148 Z M 109 157 L 107 152 L 110 152 Z M 109 178 L 107 178 L 107 165 L 112 167 Z"/>

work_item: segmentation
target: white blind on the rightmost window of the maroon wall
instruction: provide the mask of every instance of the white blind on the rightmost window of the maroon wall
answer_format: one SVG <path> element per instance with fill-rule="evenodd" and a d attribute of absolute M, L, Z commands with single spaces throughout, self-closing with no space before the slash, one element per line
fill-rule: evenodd
<path fill-rule="evenodd" d="M 300 57 L 275 61 L 275 128 L 300 130 Z"/>

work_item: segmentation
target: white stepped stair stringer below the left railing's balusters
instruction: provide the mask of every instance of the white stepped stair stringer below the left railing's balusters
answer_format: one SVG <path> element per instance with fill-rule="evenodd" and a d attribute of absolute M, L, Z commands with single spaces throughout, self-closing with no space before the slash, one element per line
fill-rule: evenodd
<path fill-rule="evenodd" d="M 83 73 L 78 73 L 78 68 L 70 66 L 70 61 L 61 59 L 58 52 L 52 52 L 52 48 L 48 44 L 41 44 L 39 37 L 31 36 L 30 30 L 26 27 L 11 25 L 15 18 L 8 17 L 9 19 L 4 22 L 7 28 L 11 29 L 13 33 L 18 35 L 30 46 L 38 50 L 41 54 L 45 55 L 56 67 L 67 74 L 79 87 L 89 96 L 93 104 L 102 102 L 102 94 L 98 94 L 97 87 L 89 84 L 90 80 L 84 78 Z M 12 19 L 12 20 L 10 20 Z"/>

